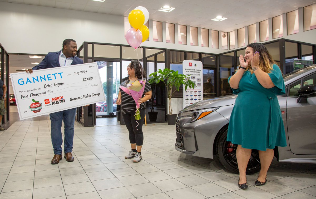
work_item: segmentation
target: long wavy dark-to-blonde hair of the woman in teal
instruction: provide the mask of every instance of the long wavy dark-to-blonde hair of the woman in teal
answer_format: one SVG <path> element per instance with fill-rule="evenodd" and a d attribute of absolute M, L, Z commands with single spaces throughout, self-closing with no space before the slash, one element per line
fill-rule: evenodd
<path fill-rule="evenodd" d="M 268 52 L 267 48 L 260 43 L 251 43 L 248 44 L 247 47 L 251 47 L 253 53 L 256 51 L 259 52 L 260 56 L 258 67 L 260 67 L 265 73 L 271 73 L 271 70 L 273 70 L 273 64 L 276 64 L 276 62 L 272 59 L 272 56 Z M 246 70 L 253 73 L 250 65 L 248 65 Z"/>

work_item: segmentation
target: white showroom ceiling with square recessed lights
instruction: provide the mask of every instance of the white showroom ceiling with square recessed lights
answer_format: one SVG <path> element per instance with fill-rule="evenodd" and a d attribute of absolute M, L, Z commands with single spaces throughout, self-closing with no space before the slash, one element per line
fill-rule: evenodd
<path fill-rule="evenodd" d="M 0 0 L 4 2 L 74 9 L 128 16 L 137 6 L 149 11 L 149 19 L 230 32 L 270 17 L 316 3 L 316 0 Z M 170 13 L 162 6 L 175 7 Z M 213 21 L 217 15 L 228 17 Z"/>

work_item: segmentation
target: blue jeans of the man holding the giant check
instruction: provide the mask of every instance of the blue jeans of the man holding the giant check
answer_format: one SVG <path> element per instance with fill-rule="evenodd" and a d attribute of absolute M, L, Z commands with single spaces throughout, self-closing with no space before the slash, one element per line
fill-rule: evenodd
<path fill-rule="evenodd" d="M 76 117 L 77 108 L 71 108 L 64 111 L 59 111 L 56 113 L 49 114 L 51 118 L 51 128 L 52 128 L 52 144 L 54 148 L 54 154 L 61 155 L 63 149 L 61 145 L 63 144 L 63 138 L 61 134 L 61 126 L 64 120 L 64 152 L 72 152 L 72 144 L 74 141 L 74 125 Z"/>

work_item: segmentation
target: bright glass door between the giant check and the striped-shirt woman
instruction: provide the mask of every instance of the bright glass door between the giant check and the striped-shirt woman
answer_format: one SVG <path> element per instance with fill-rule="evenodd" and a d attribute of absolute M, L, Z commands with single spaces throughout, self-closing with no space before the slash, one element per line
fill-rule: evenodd
<path fill-rule="evenodd" d="M 97 117 L 116 116 L 117 105 L 116 100 L 119 94 L 120 85 L 120 66 L 117 61 L 96 61 L 99 67 L 100 78 L 105 94 L 105 101 L 95 104 L 95 112 Z"/>

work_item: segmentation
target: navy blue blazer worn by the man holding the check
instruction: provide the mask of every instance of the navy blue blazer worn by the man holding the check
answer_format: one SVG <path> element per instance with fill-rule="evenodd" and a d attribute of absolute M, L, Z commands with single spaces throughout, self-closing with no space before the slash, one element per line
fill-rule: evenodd
<path fill-rule="evenodd" d="M 59 54 L 61 50 L 58 52 L 51 52 L 48 53 L 43 61 L 40 62 L 39 65 L 34 66 L 32 69 L 33 70 L 38 70 L 38 69 L 45 69 L 45 68 L 54 68 L 54 67 L 60 67 L 59 64 Z M 76 64 L 83 64 L 82 59 L 80 59 L 77 56 L 74 56 L 74 59 L 70 65 L 76 65 Z"/>

